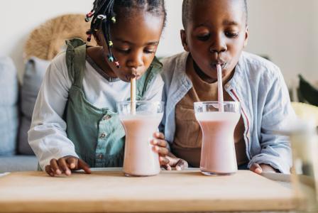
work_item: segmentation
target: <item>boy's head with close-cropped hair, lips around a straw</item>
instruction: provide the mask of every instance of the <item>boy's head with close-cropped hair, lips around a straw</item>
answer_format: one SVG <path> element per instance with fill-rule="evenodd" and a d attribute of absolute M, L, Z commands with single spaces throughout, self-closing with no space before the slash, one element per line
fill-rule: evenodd
<path fill-rule="evenodd" d="M 192 1 L 190 18 L 181 38 L 185 50 L 206 75 L 206 82 L 217 80 L 218 63 L 222 77 L 229 77 L 248 40 L 243 1 Z"/>

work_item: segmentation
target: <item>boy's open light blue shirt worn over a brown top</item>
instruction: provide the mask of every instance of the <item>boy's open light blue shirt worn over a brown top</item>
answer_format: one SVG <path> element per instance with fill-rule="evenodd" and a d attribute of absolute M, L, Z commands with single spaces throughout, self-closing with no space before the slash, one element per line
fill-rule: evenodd
<path fill-rule="evenodd" d="M 180 53 L 163 62 L 163 101 L 165 114 L 160 131 L 166 140 L 175 138 L 175 105 L 192 88 L 185 66 L 189 53 Z M 290 142 L 285 136 L 273 133 L 283 130 L 287 121 L 295 116 L 280 69 L 257 55 L 243 52 L 236 65 L 234 76 L 224 85 L 232 99 L 241 102 L 241 116 L 245 126 L 244 141 L 250 162 L 264 163 L 290 173 L 292 156 Z"/>

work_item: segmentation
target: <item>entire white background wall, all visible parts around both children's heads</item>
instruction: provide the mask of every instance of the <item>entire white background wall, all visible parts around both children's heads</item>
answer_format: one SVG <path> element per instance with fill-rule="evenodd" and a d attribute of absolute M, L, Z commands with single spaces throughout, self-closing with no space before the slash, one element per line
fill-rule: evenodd
<path fill-rule="evenodd" d="M 23 70 L 23 44 L 28 33 L 48 18 L 87 13 L 93 0 L 0 0 L 0 56 L 13 58 Z M 158 56 L 182 51 L 182 0 L 166 0 L 168 23 Z M 76 6 L 75 6 L 76 5 Z M 249 0 L 250 40 L 246 50 L 268 55 L 280 66 L 288 84 L 302 73 L 318 81 L 318 1 Z"/>

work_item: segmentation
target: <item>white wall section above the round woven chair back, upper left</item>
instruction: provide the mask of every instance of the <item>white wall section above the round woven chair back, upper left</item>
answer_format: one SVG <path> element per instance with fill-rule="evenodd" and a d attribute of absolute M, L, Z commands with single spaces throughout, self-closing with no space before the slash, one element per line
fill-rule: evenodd
<path fill-rule="evenodd" d="M 87 13 L 91 7 L 89 0 L 0 0 L 0 56 L 11 56 L 22 73 L 23 45 L 33 28 L 64 13 Z"/>

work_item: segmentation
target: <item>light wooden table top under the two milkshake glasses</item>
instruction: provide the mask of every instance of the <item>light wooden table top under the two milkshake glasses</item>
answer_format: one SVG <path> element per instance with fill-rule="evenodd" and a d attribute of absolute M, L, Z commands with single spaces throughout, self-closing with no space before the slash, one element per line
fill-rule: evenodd
<path fill-rule="evenodd" d="M 239 170 L 211 177 L 199 170 L 127 178 L 121 170 L 51 178 L 43 172 L 0 178 L 0 212 L 208 212 L 294 209 L 289 187 Z"/>

